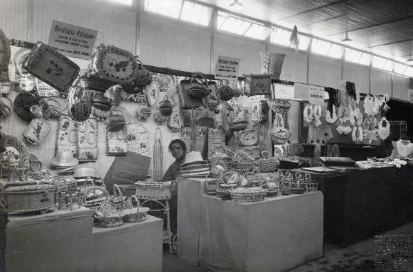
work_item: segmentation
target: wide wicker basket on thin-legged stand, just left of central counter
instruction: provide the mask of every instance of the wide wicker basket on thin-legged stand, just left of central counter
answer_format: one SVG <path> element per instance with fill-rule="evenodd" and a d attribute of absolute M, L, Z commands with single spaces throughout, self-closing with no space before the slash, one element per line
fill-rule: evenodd
<path fill-rule="evenodd" d="M 135 182 L 136 197 L 142 199 L 169 199 L 171 198 L 171 182 Z"/>

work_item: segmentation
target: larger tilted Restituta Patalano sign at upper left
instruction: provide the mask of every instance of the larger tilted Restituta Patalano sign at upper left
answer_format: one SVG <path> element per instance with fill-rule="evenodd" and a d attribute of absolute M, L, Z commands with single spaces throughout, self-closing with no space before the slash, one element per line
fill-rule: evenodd
<path fill-rule="evenodd" d="M 53 20 L 48 45 L 65 56 L 90 59 L 98 32 Z"/>

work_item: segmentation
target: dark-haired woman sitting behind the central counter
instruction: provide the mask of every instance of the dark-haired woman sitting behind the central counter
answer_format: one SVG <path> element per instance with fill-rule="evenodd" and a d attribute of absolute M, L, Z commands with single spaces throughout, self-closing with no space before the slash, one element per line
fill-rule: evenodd
<path fill-rule="evenodd" d="M 169 143 L 169 152 L 175 161 L 167 169 L 162 181 L 174 181 L 180 175 L 180 165 L 185 161 L 185 155 L 187 154 L 187 145 L 182 140 L 176 139 Z M 169 201 L 171 209 L 169 211 L 169 217 L 171 220 L 171 231 L 176 234 L 176 221 L 177 221 L 177 210 L 178 210 L 178 185 L 176 182 L 172 183 L 171 186 L 171 200 Z M 166 218 L 164 218 L 166 227 Z"/>

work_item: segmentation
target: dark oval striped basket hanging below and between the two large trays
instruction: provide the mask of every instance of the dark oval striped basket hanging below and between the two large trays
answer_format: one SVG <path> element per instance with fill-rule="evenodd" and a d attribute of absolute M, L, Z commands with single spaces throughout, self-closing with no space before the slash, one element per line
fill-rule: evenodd
<path fill-rule="evenodd" d="M 83 122 L 92 113 L 92 94 L 85 81 L 78 78 L 67 94 L 67 113 L 78 122 Z"/>

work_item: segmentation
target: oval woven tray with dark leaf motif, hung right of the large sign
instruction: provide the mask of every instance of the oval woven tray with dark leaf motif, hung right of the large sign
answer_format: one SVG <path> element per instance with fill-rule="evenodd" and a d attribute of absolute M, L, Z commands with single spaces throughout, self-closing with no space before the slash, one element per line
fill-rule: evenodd
<path fill-rule="evenodd" d="M 114 83 L 127 84 L 134 80 L 138 71 L 135 57 L 128 51 L 113 45 L 100 44 L 90 66 L 96 76 Z"/>

